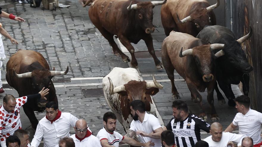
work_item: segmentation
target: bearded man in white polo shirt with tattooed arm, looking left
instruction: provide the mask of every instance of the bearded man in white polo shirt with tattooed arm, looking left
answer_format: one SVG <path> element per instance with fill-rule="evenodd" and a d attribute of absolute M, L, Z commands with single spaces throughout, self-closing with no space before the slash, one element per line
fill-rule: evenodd
<path fill-rule="evenodd" d="M 141 100 L 132 101 L 130 103 L 130 109 L 133 121 L 125 136 L 133 137 L 136 134 L 142 143 L 152 140 L 152 142 L 155 143 L 155 147 L 160 147 L 162 145 L 160 137 L 163 128 L 159 120 L 154 115 L 146 113 L 145 103 Z"/>

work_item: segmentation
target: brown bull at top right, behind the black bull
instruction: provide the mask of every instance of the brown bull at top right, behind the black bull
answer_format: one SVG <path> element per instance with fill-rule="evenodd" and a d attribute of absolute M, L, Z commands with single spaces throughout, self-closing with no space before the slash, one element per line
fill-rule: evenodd
<path fill-rule="evenodd" d="M 212 6 L 206 0 L 168 0 L 161 7 L 166 36 L 174 30 L 196 37 L 205 25 L 216 25 L 216 16 L 212 10 L 219 4 L 219 0 Z"/>

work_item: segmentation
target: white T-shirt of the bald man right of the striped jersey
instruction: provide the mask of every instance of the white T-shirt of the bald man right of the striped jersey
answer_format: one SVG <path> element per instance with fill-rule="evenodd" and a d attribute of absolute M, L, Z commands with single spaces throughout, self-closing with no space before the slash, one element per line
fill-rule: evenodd
<path fill-rule="evenodd" d="M 244 137 L 247 137 L 247 136 L 230 133 L 230 132 L 223 132 L 222 138 L 219 142 L 213 141 L 212 135 L 206 137 L 204 141 L 208 143 L 209 147 L 227 147 L 227 143 L 230 141 L 238 143 L 237 146 L 241 146 L 241 142 Z"/>

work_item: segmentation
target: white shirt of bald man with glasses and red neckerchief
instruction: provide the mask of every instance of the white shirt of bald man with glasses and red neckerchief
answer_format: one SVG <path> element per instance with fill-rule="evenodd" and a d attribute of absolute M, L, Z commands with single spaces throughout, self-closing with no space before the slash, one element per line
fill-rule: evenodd
<path fill-rule="evenodd" d="M 99 139 L 94 135 L 90 135 L 81 141 L 76 138 L 75 134 L 70 137 L 73 138 L 75 147 L 101 147 Z"/>

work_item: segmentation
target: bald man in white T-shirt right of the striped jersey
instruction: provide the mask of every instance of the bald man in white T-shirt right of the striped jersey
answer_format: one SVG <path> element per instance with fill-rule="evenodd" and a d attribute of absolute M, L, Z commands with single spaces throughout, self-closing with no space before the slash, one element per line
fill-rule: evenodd
<path fill-rule="evenodd" d="M 246 135 L 240 135 L 230 132 L 223 132 L 223 127 L 221 124 L 215 122 L 210 127 L 210 134 L 204 139 L 208 143 L 209 147 L 233 147 L 233 142 L 238 143 L 237 146 L 241 147 L 241 141 Z"/>

